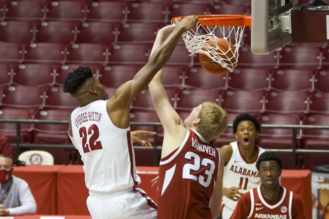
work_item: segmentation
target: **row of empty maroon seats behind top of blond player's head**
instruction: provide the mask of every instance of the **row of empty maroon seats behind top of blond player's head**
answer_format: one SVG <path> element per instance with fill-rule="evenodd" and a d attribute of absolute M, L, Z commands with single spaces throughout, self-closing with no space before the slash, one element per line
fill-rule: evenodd
<path fill-rule="evenodd" d="M 107 88 L 111 96 L 115 88 Z M 169 101 L 177 111 L 190 111 L 204 101 L 212 101 L 228 112 L 234 113 L 282 113 L 297 114 L 329 113 L 329 93 L 296 93 L 242 90 L 176 90 L 167 88 Z M 1 108 L 24 109 L 74 109 L 78 103 L 61 87 L 3 86 L 1 87 Z M 154 111 L 148 90 L 140 94 L 132 103 L 132 110 Z"/>

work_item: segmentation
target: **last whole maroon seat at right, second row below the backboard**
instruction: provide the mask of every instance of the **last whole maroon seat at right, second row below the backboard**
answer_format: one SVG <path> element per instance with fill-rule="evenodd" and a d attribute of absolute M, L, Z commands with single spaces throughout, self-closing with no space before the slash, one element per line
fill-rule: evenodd
<path fill-rule="evenodd" d="M 312 92 L 314 90 L 313 72 L 298 69 L 275 70 L 271 78 L 271 90 Z"/>

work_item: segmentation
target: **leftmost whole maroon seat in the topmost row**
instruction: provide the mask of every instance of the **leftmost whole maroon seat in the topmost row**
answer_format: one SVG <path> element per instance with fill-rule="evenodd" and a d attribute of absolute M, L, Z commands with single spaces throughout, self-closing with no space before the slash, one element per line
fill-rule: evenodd
<path fill-rule="evenodd" d="M 43 20 L 46 5 L 43 0 L 11 0 L 7 1 L 6 19 Z"/>

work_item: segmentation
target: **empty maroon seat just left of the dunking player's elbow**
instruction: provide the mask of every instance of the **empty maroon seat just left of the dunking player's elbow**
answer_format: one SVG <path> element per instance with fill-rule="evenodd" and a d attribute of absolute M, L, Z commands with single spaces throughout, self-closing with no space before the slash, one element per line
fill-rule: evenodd
<path fill-rule="evenodd" d="M 149 60 L 150 48 L 146 44 L 121 44 L 110 49 L 109 64 L 145 65 Z"/>

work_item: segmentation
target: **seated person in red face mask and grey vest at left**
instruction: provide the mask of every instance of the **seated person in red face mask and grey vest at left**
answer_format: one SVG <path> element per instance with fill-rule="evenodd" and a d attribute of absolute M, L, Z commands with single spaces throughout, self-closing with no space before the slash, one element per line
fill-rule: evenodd
<path fill-rule="evenodd" d="M 12 160 L 0 154 L 0 216 L 33 215 L 36 204 L 27 183 L 12 174 Z"/>

